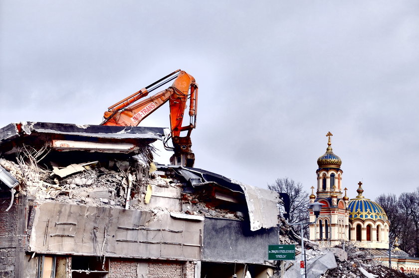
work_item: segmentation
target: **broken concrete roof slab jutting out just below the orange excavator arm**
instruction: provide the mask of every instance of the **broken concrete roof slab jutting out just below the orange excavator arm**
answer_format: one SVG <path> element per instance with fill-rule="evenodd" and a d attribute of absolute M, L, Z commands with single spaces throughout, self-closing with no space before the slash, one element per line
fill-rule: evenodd
<path fill-rule="evenodd" d="M 163 135 L 160 127 L 19 122 L 0 128 L 0 151 L 12 154 L 18 145 L 37 147 L 46 144 L 59 151 L 131 153 L 140 145 L 162 140 Z"/>

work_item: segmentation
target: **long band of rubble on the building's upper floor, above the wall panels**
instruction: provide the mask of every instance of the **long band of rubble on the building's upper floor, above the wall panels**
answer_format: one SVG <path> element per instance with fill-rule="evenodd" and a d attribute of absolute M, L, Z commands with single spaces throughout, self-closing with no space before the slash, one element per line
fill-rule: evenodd
<path fill-rule="evenodd" d="M 244 217 L 240 211 L 206 203 L 203 197 L 205 192 L 201 197 L 183 192 L 183 181 L 165 172 L 156 171 L 157 167 L 153 163 L 144 162 L 141 157 L 73 163 L 65 167 L 60 166 L 62 162 L 39 163 L 35 159 L 23 162 L 20 158 L 13 162 L 2 158 L 0 165 L 19 181 L 22 188 L 18 188 L 16 197 L 19 193 L 28 193 L 36 196 L 38 203 L 55 201 L 153 212 L 169 211 L 168 208 L 148 205 L 153 201 L 152 195 L 158 189 L 156 187 L 161 187 L 174 188 L 181 192 L 179 202 L 184 213 L 229 219 Z"/>

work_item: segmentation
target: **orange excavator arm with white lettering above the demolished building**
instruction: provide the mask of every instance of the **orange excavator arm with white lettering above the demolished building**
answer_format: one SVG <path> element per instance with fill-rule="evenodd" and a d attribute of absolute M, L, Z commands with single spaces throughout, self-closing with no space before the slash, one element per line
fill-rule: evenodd
<path fill-rule="evenodd" d="M 139 101 L 150 92 L 172 80 L 175 81 L 168 89 Z M 190 123 L 189 125 L 182 126 L 188 98 L 190 99 Z M 108 107 L 108 111 L 104 113 L 104 120 L 101 124 L 137 126 L 168 100 L 170 104 L 171 137 L 175 152 L 171 158 L 171 163 L 193 167 L 195 155 L 191 150 L 192 143 L 190 135 L 192 129 L 197 124 L 198 84 L 196 84 L 194 77 L 184 71 L 177 70 Z M 181 131 L 188 131 L 188 134 L 185 137 L 181 137 Z"/>

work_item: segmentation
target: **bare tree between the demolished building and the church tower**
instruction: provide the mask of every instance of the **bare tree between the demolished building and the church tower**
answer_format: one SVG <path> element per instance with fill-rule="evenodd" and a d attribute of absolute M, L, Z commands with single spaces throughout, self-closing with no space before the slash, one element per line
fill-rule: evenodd
<path fill-rule="evenodd" d="M 276 192 L 284 192 L 289 195 L 290 211 L 289 222 L 298 223 L 301 221 L 308 221 L 308 193 L 303 190 L 303 185 L 295 182 L 290 178 L 276 179 L 273 185 L 268 185 L 268 188 Z M 304 230 L 304 236 L 308 235 L 308 229 Z"/>

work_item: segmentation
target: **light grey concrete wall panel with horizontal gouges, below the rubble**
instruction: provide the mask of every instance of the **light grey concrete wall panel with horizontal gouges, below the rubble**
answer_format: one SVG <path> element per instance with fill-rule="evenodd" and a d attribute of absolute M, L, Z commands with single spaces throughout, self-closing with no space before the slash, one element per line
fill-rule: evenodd
<path fill-rule="evenodd" d="M 163 211 L 153 213 L 52 202 L 40 204 L 34 213 L 31 252 L 201 258 L 202 221 L 176 219 Z"/>

